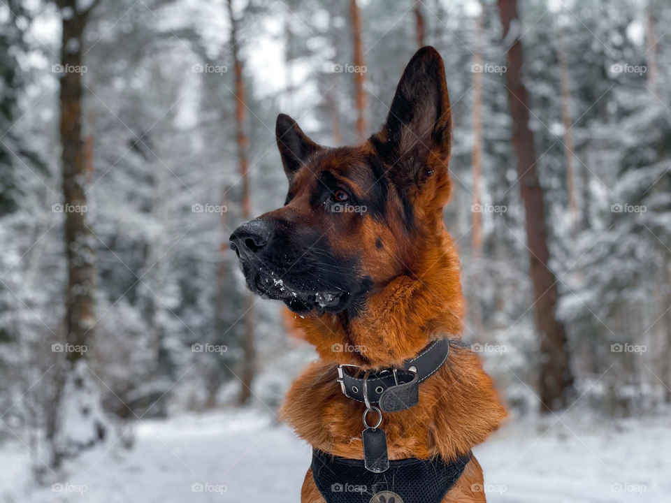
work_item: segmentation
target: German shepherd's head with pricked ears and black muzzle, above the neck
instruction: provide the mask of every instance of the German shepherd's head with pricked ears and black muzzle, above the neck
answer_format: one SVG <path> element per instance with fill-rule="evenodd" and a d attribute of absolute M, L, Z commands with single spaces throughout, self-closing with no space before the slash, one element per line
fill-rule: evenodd
<path fill-rule="evenodd" d="M 298 314 L 348 312 L 399 275 L 418 275 L 444 232 L 452 122 L 438 52 L 407 64 L 382 130 L 356 147 L 323 147 L 287 115 L 277 146 L 284 206 L 231 235 L 247 285 Z"/>

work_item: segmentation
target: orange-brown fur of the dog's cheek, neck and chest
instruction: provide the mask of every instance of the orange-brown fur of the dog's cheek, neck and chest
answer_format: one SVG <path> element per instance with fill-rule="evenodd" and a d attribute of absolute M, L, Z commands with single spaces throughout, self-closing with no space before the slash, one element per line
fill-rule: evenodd
<path fill-rule="evenodd" d="M 361 148 L 365 151 L 370 147 Z M 440 177 L 434 180 L 434 194 L 419 199 L 415 205 L 428 207 L 421 208 L 424 211 L 418 221 L 423 228 L 419 230 L 421 238 L 414 243 L 398 238 L 405 235 L 400 222 L 387 227 L 370 217 L 363 217 L 366 221 L 359 228 L 360 235 L 347 238 L 348 242 L 366 244 L 363 268 L 375 282 L 366 309 L 359 316 L 347 323 L 333 314 L 296 317 L 296 326 L 305 334 L 305 340 L 315 346 L 320 359 L 296 379 L 282 407 L 282 417 L 317 449 L 347 458 L 360 459 L 363 454 L 361 414 L 365 407 L 342 395 L 335 381 L 334 363 L 398 365 L 435 337 L 459 337 L 461 333 L 459 258 L 442 223 L 442 211 L 434 206 L 442 199 L 436 194 L 449 191 L 449 183 Z M 298 206 L 299 199 L 293 204 Z M 384 243 L 382 250 L 374 245 L 379 236 Z M 340 248 L 345 248 L 344 255 L 349 253 L 345 245 Z M 398 270 L 406 273 L 380 267 L 385 262 L 395 263 Z M 332 351 L 333 344 L 365 347 L 367 361 L 355 352 Z M 484 441 L 503 417 L 505 410 L 477 356 L 452 347 L 447 364 L 420 386 L 419 404 L 407 411 L 385 414 L 383 428 L 389 440 L 390 459 L 436 454 L 454 458 Z M 478 488 L 482 488 L 482 469 L 474 458 L 444 501 L 484 501 L 484 493 Z M 324 501 L 310 472 L 305 477 L 301 501 Z"/>

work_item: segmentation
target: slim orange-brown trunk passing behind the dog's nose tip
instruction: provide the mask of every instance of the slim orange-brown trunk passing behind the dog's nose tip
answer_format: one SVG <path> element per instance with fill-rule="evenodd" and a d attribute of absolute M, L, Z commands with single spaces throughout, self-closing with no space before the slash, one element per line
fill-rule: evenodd
<path fill-rule="evenodd" d="M 247 137 L 247 106 L 245 104 L 245 82 L 243 80 L 243 61 L 240 59 L 238 50 L 238 20 L 233 15 L 233 0 L 228 0 L 229 17 L 231 19 L 231 52 L 233 54 L 233 66 L 236 78 L 236 143 L 238 144 L 238 163 L 240 166 L 240 178 L 242 188 L 240 190 L 241 217 L 244 221 L 252 218 L 252 205 L 250 201 L 250 178 L 249 161 L 247 150 L 249 138 Z M 245 326 L 245 338 L 243 342 L 243 359 L 241 362 L 240 381 L 242 388 L 238 396 L 238 403 L 244 404 L 252 396 L 252 384 L 256 375 L 256 347 L 254 345 L 254 298 L 251 292 L 245 292 L 245 313 L 243 314 L 243 325 Z"/>

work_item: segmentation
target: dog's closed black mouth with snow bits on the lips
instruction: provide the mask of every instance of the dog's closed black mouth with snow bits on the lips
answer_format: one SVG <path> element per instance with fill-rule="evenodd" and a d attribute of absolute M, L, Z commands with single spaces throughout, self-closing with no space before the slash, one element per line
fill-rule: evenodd
<path fill-rule="evenodd" d="M 262 298 L 282 300 L 297 314 L 307 314 L 315 309 L 320 312 L 339 312 L 349 297 L 349 292 L 343 290 L 315 291 L 305 286 L 294 288 L 272 271 L 268 274 L 259 272 L 251 282 L 247 279 L 247 284 Z"/>

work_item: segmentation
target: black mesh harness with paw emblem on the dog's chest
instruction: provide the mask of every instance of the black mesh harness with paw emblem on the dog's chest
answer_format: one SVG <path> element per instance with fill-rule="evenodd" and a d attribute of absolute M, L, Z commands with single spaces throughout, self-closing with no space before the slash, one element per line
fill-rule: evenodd
<path fill-rule="evenodd" d="M 408 458 L 389 461 L 374 473 L 363 460 L 312 451 L 312 476 L 326 503 L 440 503 L 459 480 L 471 453 L 445 461 Z"/>

